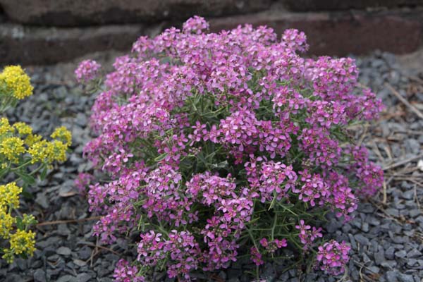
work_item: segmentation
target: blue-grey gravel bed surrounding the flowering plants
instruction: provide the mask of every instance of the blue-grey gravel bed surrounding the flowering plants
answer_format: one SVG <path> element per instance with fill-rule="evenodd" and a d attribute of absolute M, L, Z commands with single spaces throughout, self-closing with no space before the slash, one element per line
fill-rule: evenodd
<path fill-rule="evenodd" d="M 114 55 L 95 57 L 110 63 Z M 262 267 L 260 275 L 265 281 L 423 281 L 423 171 L 417 168 L 417 156 L 423 152 L 423 120 L 386 85 L 389 83 L 409 102 L 421 107 L 423 76 L 420 78 L 417 71 L 400 65 L 392 54 L 375 52 L 357 59 L 357 64 L 362 84 L 372 87 L 387 106 L 379 123 L 370 125 L 360 135 L 371 150 L 372 159 L 387 168 L 386 192 L 362 202 L 353 221 L 332 219 L 327 224 L 329 237 L 352 246 L 348 271 L 341 280 L 320 271 L 284 271 L 286 267 L 275 262 Z M 76 85 L 75 66 L 76 63 L 66 63 L 27 68 L 35 94 L 8 115 L 12 120 L 30 123 L 35 132 L 44 136 L 54 127 L 66 125 L 73 133 L 73 152 L 65 164 L 49 173 L 47 180 L 30 188 L 33 198 L 23 202 L 23 211 L 35 211 L 39 222 L 52 224 L 37 226 L 38 250 L 34 257 L 16 259 L 11 265 L 0 261 L 0 281 L 113 281 L 118 254 L 130 255 L 124 240 L 104 246 L 106 249 L 96 247 L 97 240 L 92 237 L 95 220 L 90 219 L 94 215 L 88 212 L 85 198 L 73 186 L 79 172 L 91 169 L 82 159 L 82 148 L 90 140 L 87 122 L 94 102 L 94 96 L 83 94 Z M 396 165 L 404 160 L 404 164 Z M 251 281 L 251 276 L 245 274 L 251 269 L 247 263 L 237 262 L 216 273 L 214 281 Z M 164 281 L 164 275 L 157 274 L 154 281 Z"/>

